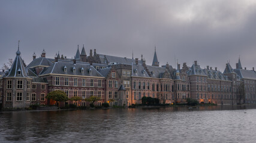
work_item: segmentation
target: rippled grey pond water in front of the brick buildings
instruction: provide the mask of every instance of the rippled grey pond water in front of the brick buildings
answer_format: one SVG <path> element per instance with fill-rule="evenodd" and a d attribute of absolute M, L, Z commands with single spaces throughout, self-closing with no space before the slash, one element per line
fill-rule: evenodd
<path fill-rule="evenodd" d="M 0 142 L 255 142 L 253 106 L 0 112 Z"/>

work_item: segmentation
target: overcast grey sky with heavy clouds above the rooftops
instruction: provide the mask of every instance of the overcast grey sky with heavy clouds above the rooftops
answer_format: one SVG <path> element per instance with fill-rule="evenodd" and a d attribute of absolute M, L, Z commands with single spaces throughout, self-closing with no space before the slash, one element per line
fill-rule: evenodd
<path fill-rule="evenodd" d="M 20 40 L 26 64 L 35 52 L 74 57 L 79 45 L 98 54 L 143 58 L 224 71 L 256 67 L 256 1 L 254 0 L 0 0 L 0 69 L 15 58 Z"/>

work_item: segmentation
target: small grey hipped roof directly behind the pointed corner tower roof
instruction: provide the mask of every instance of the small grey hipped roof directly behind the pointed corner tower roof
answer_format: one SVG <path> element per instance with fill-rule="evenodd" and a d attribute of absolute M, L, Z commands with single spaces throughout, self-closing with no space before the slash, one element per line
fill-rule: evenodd
<path fill-rule="evenodd" d="M 52 58 L 39 57 L 31 61 L 31 63 L 29 63 L 27 67 L 40 67 L 40 66 L 49 67 L 49 66 L 52 66 L 53 61 L 54 59 Z"/>

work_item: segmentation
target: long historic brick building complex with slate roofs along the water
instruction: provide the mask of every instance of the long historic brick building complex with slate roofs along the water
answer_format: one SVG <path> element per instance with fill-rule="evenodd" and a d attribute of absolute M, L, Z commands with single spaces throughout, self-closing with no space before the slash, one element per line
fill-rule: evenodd
<path fill-rule="evenodd" d="M 16 58 L 8 71 L 0 72 L 0 102 L 4 108 L 26 108 L 32 104 L 49 105 L 47 93 L 64 91 L 68 98 L 81 97 L 80 101 L 67 101 L 62 104 L 88 106 L 85 99 L 100 97 L 95 105 L 109 102 L 110 105 L 127 106 L 141 104 L 142 97 L 159 98 L 162 103 L 186 103 L 186 98 L 200 103 L 243 104 L 256 103 L 256 73 L 236 69 L 226 64 L 222 73 L 216 67 L 201 69 L 197 61 L 187 66 L 177 64 L 177 69 L 165 64 L 159 67 L 156 49 L 152 65 L 146 65 L 141 55 L 138 58 L 122 58 L 97 54 L 96 49 L 86 55 L 83 46 L 77 48 L 74 58 L 56 54 L 47 58 L 43 50 L 40 57 L 32 55 L 26 66 L 16 52 Z"/>

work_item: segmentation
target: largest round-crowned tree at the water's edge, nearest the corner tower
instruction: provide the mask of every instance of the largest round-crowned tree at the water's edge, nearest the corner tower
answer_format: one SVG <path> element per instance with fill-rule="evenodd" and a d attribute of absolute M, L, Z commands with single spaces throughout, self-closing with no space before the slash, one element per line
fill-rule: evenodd
<path fill-rule="evenodd" d="M 68 101 L 68 96 L 65 94 L 64 91 L 52 91 L 47 94 L 46 98 L 48 100 L 54 100 L 57 101 L 58 104 L 61 101 Z"/>

